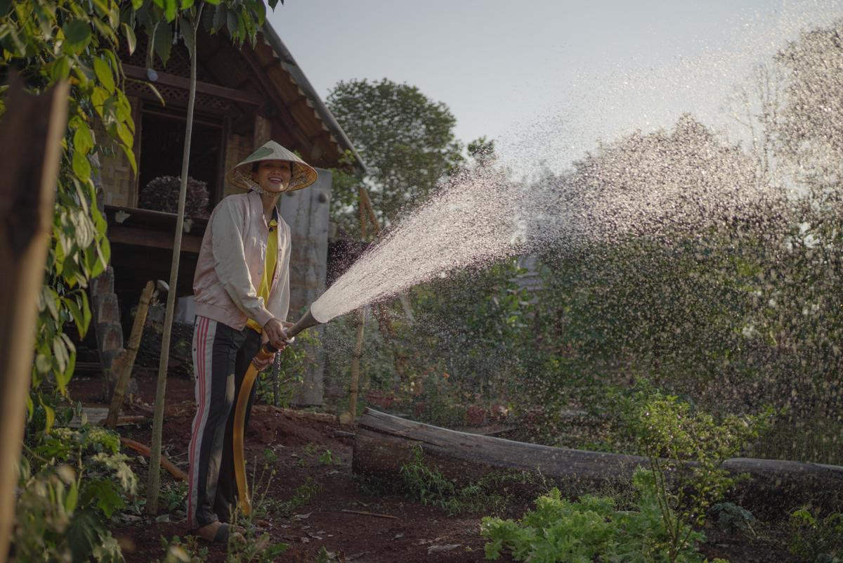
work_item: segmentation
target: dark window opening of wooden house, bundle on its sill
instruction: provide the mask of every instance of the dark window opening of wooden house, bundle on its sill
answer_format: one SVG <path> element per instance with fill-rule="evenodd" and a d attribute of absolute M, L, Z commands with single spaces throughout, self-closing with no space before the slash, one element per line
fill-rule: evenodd
<path fill-rule="evenodd" d="M 181 158 L 185 150 L 185 115 L 166 110 L 145 109 L 141 113 L 141 151 L 138 163 L 138 207 L 163 210 L 166 205 L 161 194 L 145 193 L 150 182 L 161 176 L 180 176 Z M 191 134 L 191 162 L 188 176 L 207 185 L 210 212 L 220 193 L 223 164 L 223 122 L 220 119 L 194 115 Z M 160 187 L 157 188 L 160 191 Z M 191 197 L 189 191 L 188 197 Z M 188 215 L 196 206 L 187 204 Z M 172 209 L 164 209 L 172 211 Z M 192 213 L 196 215 L 196 213 Z M 207 216 L 207 215 L 206 215 Z"/>

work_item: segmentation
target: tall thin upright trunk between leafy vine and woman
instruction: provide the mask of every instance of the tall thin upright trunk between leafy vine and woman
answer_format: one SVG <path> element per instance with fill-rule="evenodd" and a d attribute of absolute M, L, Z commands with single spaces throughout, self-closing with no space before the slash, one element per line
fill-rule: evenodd
<path fill-rule="evenodd" d="M 185 149 L 181 158 L 181 186 L 179 188 L 179 211 L 175 221 L 173 261 L 169 269 L 169 292 L 167 310 L 164 314 L 164 334 L 161 336 L 161 358 L 158 361 L 158 385 L 155 388 L 155 413 L 153 415 L 153 445 L 149 455 L 149 477 L 147 480 L 147 514 L 158 514 L 158 487 L 161 471 L 161 429 L 164 426 L 164 394 L 167 389 L 167 363 L 169 360 L 169 339 L 173 329 L 176 284 L 179 281 L 179 258 L 181 254 L 181 233 L 185 223 L 185 196 L 187 194 L 187 172 L 191 161 L 191 133 L 193 132 L 193 108 L 196 105 L 196 33 L 201 19 L 201 8 L 191 21 L 192 37 L 185 35 L 185 43 L 191 52 L 191 92 L 187 101 L 187 125 L 185 126 Z"/>

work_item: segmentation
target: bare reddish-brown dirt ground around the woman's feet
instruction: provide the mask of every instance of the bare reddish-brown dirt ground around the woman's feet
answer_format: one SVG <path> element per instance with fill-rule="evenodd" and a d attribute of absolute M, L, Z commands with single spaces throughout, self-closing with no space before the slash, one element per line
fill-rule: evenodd
<path fill-rule="evenodd" d="M 85 406 L 104 406 L 95 399 L 100 394 L 99 377 L 78 377 L 71 385 L 72 399 Z M 138 377 L 137 406 L 126 414 L 148 414 L 153 403 L 155 383 L 152 373 Z M 187 469 L 186 451 L 194 414 L 193 387 L 187 378 L 170 377 L 167 382 L 164 416 L 164 456 L 181 469 Z M 255 535 L 269 534 L 272 543 L 289 545 L 277 560 L 312 563 L 323 548 L 335 561 L 360 563 L 414 563 L 448 561 L 479 562 L 484 558 L 484 541 L 479 534 L 481 514 L 448 517 L 434 507 L 408 501 L 403 496 L 361 491 L 352 475 L 354 426 L 342 426 L 334 416 L 297 410 L 280 410 L 256 405 L 246 432 L 246 458 L 255 517 Z M 151 416 L 146 422 L 121 426 L 121 436 L 150 443 Z M 133 469 L 138 480 L 147 480 L 146 461 L 131 449 Z M 275 474 L 270 475 L 274 470 Z M 140 499 L 134 513 L 126 511 L 122 523 L 112 528 L 128 563 L 164 560 L 162 538 L 185 537 L 185 485 L 178 485 L 169 474 L 162 478 L 163 501 L 169 512 L 154 521 L 144 515 Z M 255 492 L 255 483 L 257 490 Z M 180 488 L 181 487 L 181 488 Z M 292 510 L 279 510 L 296 496 L 297 488 L 311 491 L 306 501 Z M 264 495 L 261 501 L 259 496 Z M 518 505 L 520 502 L 520 506 Z M 289 505 L 287 505 L 289 508 Z M 513 504 L 513 513 L 529 508 L 529 501 Z M 743 539 L 710 535 L 705 554 L 741 561 L 792 561 L 780 550 L 751 545 Z M 222 562 L 225 548 L 200 543 L 208 548 L 208 563 Z M 507 556 L 500 561 L 511 561 Z"/>

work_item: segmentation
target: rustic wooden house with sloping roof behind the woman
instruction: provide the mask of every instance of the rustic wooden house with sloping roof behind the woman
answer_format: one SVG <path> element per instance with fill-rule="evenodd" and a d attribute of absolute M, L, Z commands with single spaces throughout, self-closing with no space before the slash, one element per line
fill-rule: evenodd
<path fill-rule="evenodd" d="M 185 46 L 174 45 L 164 67 L 157 56 L 148 61 L 146 41 L 139 36 L 136 51 L 121 56 L 136 124 L 137 174 L 132 174 L 120 153 L 99 163 L 112 267 L 94 282 L 91 293 L 105 370 L 123 346 L 121 320 L 122 327 L 131 326 L 129 308 L 137 303 L 147 281 L 169 280 L 172 257 L 175 213 L 144 209 L 143 201 L 150 180 L 180 175 L 190 56 Z M 209 201 L 204 213 L 186 217 L 175 291 L 180 298 L 191 295 L 207 213 L 237 191 L 225 182 L 225 172 L 272 139 L 298 152 L 319 171 L 315 185 L 281 200 L 282 216 L 293 233 L 290 314 L 298 318 L 325 284 L 331 191 L 327 169 L 343 165 L 364 169 L 364 165 L 269 24 L 259 32 L 254 48 L 234 46 L 224 33 L 201 33 L 196 51 L 198 82 L 189 175 L 205 182 Z M 350 164 L 342 164 L 346 153 L 352 155 Z M 190 300 L 180 300 L 181 320 L 192 321 L 190 305 Z M 314 367 L 316 372 L 319 369 Z M 322 402 L 321 373 L 309 374 L 299 402 Z"/>

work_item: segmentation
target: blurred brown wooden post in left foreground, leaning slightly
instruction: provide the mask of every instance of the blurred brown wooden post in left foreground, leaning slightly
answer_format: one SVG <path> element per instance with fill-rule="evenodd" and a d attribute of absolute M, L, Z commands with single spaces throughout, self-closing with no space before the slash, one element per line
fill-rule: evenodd
<path fill-rule="evenodd" d="M 67 127 L 67 82 L 40 96 L 12 76 L 0 123 L 0 563 L 8 556 L 35 346 L 36 299 L 44 281 L 56 174 Z"/>

